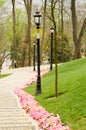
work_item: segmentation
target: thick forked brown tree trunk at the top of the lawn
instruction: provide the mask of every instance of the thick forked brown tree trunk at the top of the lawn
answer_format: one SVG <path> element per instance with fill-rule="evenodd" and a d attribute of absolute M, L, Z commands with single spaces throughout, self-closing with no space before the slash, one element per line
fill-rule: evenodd
<path fill-rule="evenodd" d="M 73 41 L 74 41 L 74 59 L 78 59 L 81 58 L 81 53 L 80 53 L 80 49 L 81 49 L 81 40 L 83 37 L 83 34 L 86 30 L 86 17 L 84 19 L 83 25 L 81 27 L 79 36 L 77 35 L 77 15 L 76 15 L 76 1 L 75 0 L 71 0 L 71 11 L 72 11 L 72 26 L 73 26 Z"/>

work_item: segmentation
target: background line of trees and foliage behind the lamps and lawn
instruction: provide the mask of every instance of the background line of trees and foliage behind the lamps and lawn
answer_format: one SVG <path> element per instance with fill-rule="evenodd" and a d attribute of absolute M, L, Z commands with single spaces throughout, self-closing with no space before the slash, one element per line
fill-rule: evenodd
<path fill-rule="evenodd" d="M 50 58 L 50 27 L 54 27 L 53 62 L 86 56 L 86 1 L 0 0 L 0 68 L 10 55 L 12 67 L 31 66 L 36 27 L 33 13 L 40 7 L 41 63 Z"/>

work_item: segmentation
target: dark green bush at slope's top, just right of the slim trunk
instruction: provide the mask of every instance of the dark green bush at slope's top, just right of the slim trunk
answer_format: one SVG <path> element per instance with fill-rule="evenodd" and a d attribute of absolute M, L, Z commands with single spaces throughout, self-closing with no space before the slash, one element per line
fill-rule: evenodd
<path fill-rule="evenodd" d="M 63 40 L 60 34 L 57 36 L 57 58 L 58 62 L 66 62 L 72 59 L 72 48 L 66 35 L 63 35 Z M 54 56 L 55 57 L 55 56 Z M 54 60 L 53 57 L 53 60 Z"/>

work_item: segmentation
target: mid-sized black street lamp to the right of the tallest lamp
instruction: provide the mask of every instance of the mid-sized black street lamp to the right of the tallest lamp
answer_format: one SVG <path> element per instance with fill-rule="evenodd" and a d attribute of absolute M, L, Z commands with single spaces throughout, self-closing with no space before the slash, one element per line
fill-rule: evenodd
<path fill-rule="evenodd" d="M 51 32 L 51 47 L 50 47 L 50 71 L 52 70 L 52 56 L 53 56 L 53 51 L 52 51 L 52 49 L 53 49 L 53 33 L 54 33 L 54 28 L 53 27 L 51 27 L 50 28 L 50 32 Z"/>

